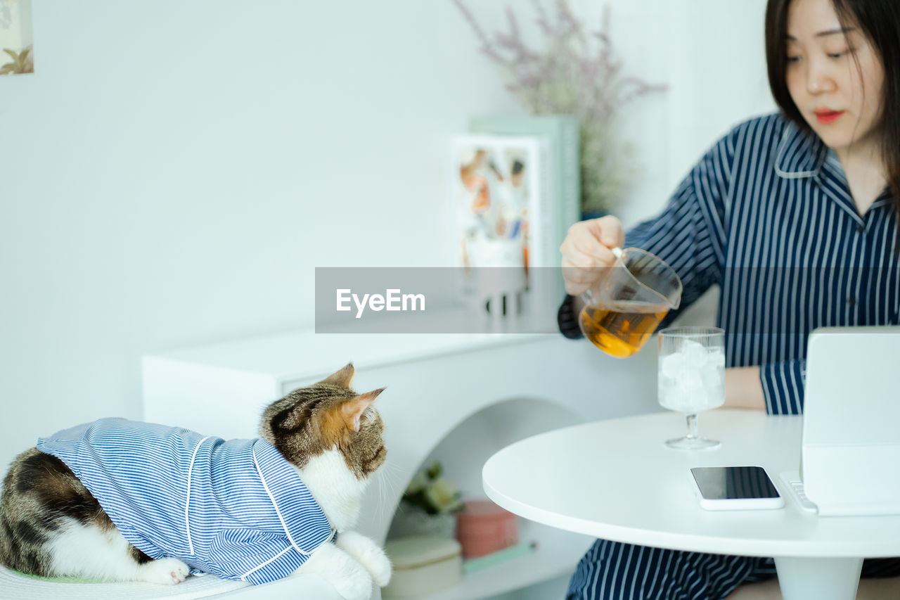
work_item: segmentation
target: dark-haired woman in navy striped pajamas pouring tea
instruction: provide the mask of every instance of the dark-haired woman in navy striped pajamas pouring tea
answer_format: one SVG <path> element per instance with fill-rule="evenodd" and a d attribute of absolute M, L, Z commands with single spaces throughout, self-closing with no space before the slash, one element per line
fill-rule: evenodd
<path fill-rule="evenodd" d="M 766 51 L 780 114 L 743 123 L 689 173 L 663 213 L 622 232 L 577 223 L 563 242 L 573 297 L 649 250 L 675 268 L 681 305 L 722 288 L 725 405 L 800 414 L 806 336 L 825 325 L 897 324 L 900 311 L 900 3 L 770 0 Z M 674 314 L 667 315 L 667 323 Z M 597 541 L 568 598 L 779 598 L 772 559 Z M 900 597 L 900 559 L 864 562 L 859 597 Z"/>

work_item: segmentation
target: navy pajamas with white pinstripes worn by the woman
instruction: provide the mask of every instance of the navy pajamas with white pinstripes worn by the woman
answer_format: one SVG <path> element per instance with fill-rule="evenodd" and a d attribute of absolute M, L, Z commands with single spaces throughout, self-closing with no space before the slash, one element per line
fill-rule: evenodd
<path fill-rule="evenodd" d="M 720 286 L 716 320 L 725 329 L 726 366 L 759 365 L 767 412 L 800 414 L 809 332 L 898 323 L 892 197 L 885 190 L 860 215 L 834 151 L 772 114 L 718 141 L 662 214 L 626 232 L 626 247 L 653 252 L 675 268 L 684 285 L 682 308 Z M 565 307 L 560 328 L 577 337 Z M 863 577 L 896 575 L 900 559 L 863 564 Z M 770 577 L 772 559 L 599 540 L 581 559 L 567 597 L 707 600 Z"/>

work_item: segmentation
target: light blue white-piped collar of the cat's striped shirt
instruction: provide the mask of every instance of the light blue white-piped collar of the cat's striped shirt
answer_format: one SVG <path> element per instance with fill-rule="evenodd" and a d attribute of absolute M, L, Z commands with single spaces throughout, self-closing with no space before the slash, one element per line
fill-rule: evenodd
<path fill-rule="evenodd" d="M 328 517 L 315 501 L 300 473 L 275 446 L 265 440 L 253 443 L 253 459 L 266 494 L 294 550 L 309 555 L 334 535 Z"/>

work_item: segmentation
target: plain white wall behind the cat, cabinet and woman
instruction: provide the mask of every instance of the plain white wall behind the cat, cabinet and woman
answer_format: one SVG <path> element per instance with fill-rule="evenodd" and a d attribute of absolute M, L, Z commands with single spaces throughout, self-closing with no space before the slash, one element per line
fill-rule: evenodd
<path fill-rule="evenodd" d="M 623 125 L 631 221 L 767 110 L 763 1 L 612 5 L 626 70 L 671 86 Z M 43 0 L 33 23 L 36 74 L 0 77 L 3 464 L 138 417 L 144 353 L 310 326 L 317 266 L 448 264 L 450 136 L 520 111 L 449 0 Z"/>

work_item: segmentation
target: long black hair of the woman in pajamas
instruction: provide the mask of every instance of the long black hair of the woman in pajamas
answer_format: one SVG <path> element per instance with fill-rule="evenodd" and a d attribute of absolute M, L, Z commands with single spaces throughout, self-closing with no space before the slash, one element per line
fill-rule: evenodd
<path fill-rule="evenodd" d="M 797 127 L 811 131 L 788 92 L 788 9 L 792 0 L 769 0 L 766 7 L 766 62 L 769 86 L 781 111 Z M 875 123 L 887 186 L 893 195 L 894 214 L 900 229 L 900 2 L 898 0 L 831 0 L 842 27 L 858 26 L 872 44 L 885 71 L 881 114 Z M 898 232 L 900 235 L 900 232 Z"/>

